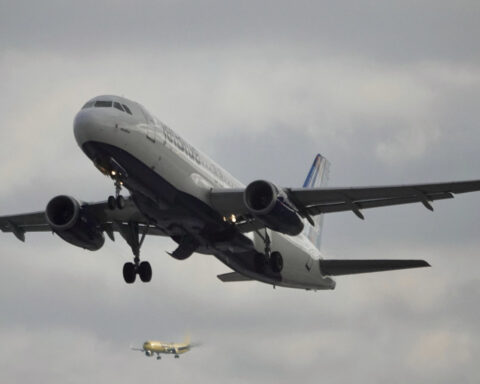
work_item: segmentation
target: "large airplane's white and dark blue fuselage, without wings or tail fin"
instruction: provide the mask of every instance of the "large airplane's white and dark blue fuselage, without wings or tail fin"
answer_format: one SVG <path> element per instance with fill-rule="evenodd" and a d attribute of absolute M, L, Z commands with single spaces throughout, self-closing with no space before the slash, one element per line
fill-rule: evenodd
<path fill-rule="evenodd" d="M 264 252 L 258 233 L 237 233 L 227 242 L 205 235 L 209 227 L 227 228 L 209 201 L 209 191 L 244 185 L 140 104 L 117 96 L 105 98 L 127 105 L 132 113 L 116 108 L 81 109 L 74 121 L 76 141 L 99 169 L 114 159 L 125 170 L 124 186 L 157 227 L 174 240 L 177 233 L 195 237 L 200 243 L 196 252 L 215 255 L 252 279 L 294 288 L 335 287 L 331 278 L 321 274 L 320 251 L 303 234 L 288 236 L 268 230 L 272 251 L 283 257 L 283 269 L 277 275 L 261 274 L 252 267 L 253 253 Z"/>

